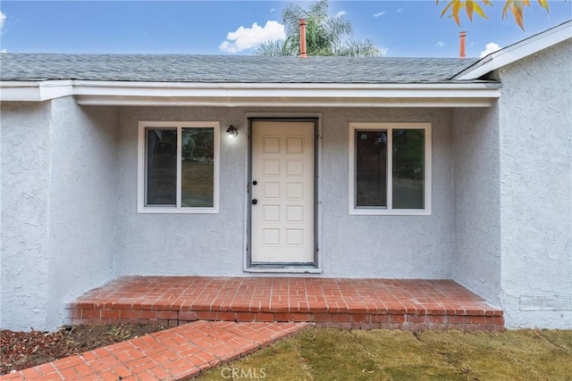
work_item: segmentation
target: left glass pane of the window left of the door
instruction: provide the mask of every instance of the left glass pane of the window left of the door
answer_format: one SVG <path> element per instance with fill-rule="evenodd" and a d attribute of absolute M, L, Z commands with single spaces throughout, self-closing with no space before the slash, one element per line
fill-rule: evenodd
<path fill-rule="evenodd" d="M 177 130 L 146 128 L 147 205 L 176 205 Z"/>

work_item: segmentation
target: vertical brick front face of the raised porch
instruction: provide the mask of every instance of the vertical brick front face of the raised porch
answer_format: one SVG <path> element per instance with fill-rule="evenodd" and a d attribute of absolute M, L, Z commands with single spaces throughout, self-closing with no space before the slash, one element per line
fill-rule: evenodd
<path fill-rule="evenodd" d="M 67 305 L 68 324 L 156 324 L 178 327 L 197 320 L 235 322 L 309 322 L 316 327 L 343 329 L 427 329 L 457 328 L 470 331 L 504 331 L 501 312 L 458 311 L 452 314 L 440 311 L 386 311 L 386 312 L 270 312 L 270 311 L 176 311 L 161 305 L 144 305 L 133 309 L 122 304 L 97 305 L 93 303 Z"/>

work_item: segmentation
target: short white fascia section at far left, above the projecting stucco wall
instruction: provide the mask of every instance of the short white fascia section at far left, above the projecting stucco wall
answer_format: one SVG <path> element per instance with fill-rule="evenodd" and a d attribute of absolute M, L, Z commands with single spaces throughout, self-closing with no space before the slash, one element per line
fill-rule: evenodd
<path fill-rule="evenodd" d="M 0 101 L 2 102 L 44 102 L 68 95 L 73 95 L 72 80 L 0 82 Z"/>

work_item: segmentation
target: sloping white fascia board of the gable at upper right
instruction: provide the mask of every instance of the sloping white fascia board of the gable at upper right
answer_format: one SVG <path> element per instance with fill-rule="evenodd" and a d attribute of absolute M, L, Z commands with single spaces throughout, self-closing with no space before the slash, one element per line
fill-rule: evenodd
<path fill-rule="evenodd" d="M 531 54 L 540 52 L 543 49 L 554 46 L 562 41 L 572 38 L 572 21 L 567 21 L 557 27 L 548 29 L 528 37 L 516 44 L 507 46 L 492 54 L 485 56 L 482 60 L 475 62 L 467 69 L 459 72 L 453 79 L 470 80 L 479 79 L 493 70 L 500 69 L 512 62 L 516 62 Z"/>

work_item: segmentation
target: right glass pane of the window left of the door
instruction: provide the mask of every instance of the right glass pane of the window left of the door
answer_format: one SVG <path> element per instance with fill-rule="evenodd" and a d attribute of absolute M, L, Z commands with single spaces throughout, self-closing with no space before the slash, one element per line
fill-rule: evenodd
<path fill-rule="evenodd" d="M 214 129 L 182 128 L 181 206 L 214 205 Z"/>

